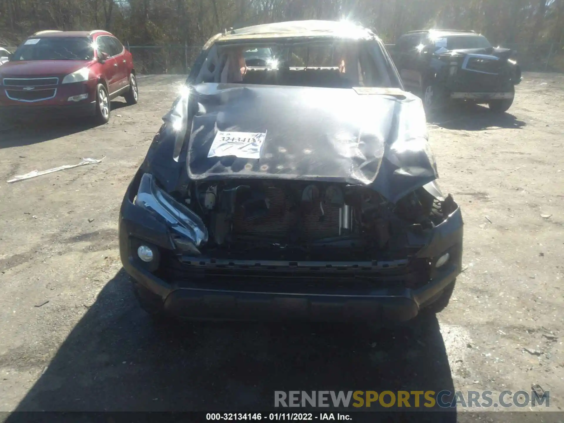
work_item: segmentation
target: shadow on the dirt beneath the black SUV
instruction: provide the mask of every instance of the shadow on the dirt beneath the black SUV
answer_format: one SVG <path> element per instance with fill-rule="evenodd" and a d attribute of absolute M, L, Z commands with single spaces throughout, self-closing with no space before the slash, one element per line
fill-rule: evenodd
<path fill-rule="evenodd" d="M 479 104 L 460 104 L 432 113 L 428 122 L 444 129 L 481 131 L 484 129 L 519 129 L 526 122 L 518 120 L 513 114 L 492 113 L 490 108 Z"/>

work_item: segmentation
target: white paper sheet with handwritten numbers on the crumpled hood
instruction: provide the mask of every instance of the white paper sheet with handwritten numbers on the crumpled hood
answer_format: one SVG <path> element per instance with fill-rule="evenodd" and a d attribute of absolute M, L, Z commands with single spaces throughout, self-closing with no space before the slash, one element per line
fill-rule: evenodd
<path fill-rule="evenodd" d="M 218 131 L 211 143 L 208 157 L 235 156 L 261 158 L 265 133 Z"/>

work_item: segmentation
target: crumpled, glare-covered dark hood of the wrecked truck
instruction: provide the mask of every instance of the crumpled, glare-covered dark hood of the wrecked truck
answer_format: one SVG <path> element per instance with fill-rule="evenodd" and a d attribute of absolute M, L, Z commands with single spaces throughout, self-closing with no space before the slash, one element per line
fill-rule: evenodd
<path fill-rule="evenodd" d="M 192 180 L 344 182 L 395 202 L 438 177 L 421 100 L 408 92 L 204 83 L 190 103 Z M 186 106 L 177 102 L 168 120 Z M 266 134 L 259 157 L 208 157 L 218 131 Z"/>

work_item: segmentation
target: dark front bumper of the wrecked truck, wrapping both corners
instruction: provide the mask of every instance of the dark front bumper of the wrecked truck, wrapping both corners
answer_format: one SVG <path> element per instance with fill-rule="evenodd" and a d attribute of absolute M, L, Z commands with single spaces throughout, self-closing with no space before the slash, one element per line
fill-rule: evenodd
<path fill-rule="evenodd" d="M 310 321 L 406 321 L 433 303 L 461 271 L 462 218 L 460 209 L 434 230 L 418 258 L 451 259 L 435 270 L 433 278 L 410 289 L 382 277 L 382 284 L 276 281 L 272 277 L 232 277 L 217 280 L 186 271 L 178 277 L 160 277 L 136 256 L 136 246 L 148 243 L 164 255 L 174 255 L 168 228 L 148 211 L 135 206 L 131 186 L 122 202 L 119 218 L 120 255 L 126 272 L 162 301 L 165 312 L 188 319 L 210 320 L 310 320 Z M 208 259 L 209 261 L 209 259 Z M 213 259 L 211 259 L 213 261 Z M 204 265 L 205 260 L 199 265 Z M 165 263 L 161 261 L 161 264 Z M 299 263 L 307 267 L 306 263 Z M 339 263 L 334 263 L 339 265 Z M 229 272 L 229 271 L 228 271 Z M 235 274 L 235 272 L 233 272 Z M 178 273 L 177 273 L 178 275 Z"/>

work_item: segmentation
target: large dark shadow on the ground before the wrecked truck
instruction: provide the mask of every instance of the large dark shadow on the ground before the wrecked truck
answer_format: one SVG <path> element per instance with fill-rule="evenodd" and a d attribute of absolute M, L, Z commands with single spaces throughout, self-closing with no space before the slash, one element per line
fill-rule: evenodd
<path fill-rule="evenodd" d="M 394 330 L 306 323 L 159 330 L 121 270 L 16 411 L 249 412 L 272 409 L 275 390 L 443 389 L 453 390 L 453 381 L 434 317 Z M 454 412 L 433 415 L 456 421 Z M 24 420 L 12 413 L 7 421 Z"/>

